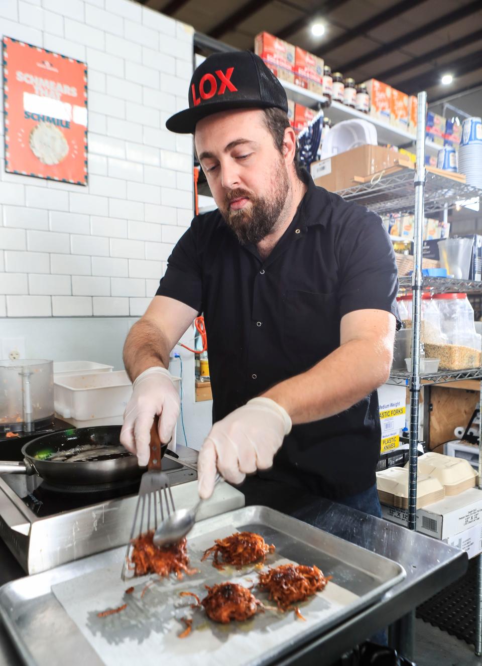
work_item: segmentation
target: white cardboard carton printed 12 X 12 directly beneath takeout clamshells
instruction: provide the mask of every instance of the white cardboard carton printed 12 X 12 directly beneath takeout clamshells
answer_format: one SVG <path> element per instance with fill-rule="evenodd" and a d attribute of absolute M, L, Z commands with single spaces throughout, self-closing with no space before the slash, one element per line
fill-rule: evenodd
<path fill-rule="evenodd" d="M 382 517 L 407 525 L 408 511 L 381 505 Z M 436 539 L 447 539 L 482 523 L 482 490 L 470 488 L 459 495 L 417 509 L 417 532 Z"/>

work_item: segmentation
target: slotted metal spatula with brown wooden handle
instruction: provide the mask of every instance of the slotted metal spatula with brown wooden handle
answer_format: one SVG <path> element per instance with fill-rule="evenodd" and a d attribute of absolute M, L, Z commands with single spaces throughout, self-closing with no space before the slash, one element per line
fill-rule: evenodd
<path fill-rule="evenodd" d="M 127 550 L 121 571 L 121 579 L 123 581 L 127 579 L 129 551 L 133 538 L 151 529 L 157 529 L 158 503 L 161 512 L 161 521 L 164 520 L 165 515 L 169 517 L 171 512 L 175 511 L 174 500 L 169 485 L 169 476 L 161 472 L 161 440 L 159 439 L 158 423 L 159 417 L 155 416 L 151 427 L 151 456 L 147 464 L 147 472 L 141 477 L 141 486 L 139 486 L 139 497 L 137 498 L 137 505 L 135 507 L 131 536 L 129 537 L 129 543 L 127 543 Z M 163 504 L 165 505 L 166 513 L 164 513 Z M 141 507 L 141 512 L 138 521 L 139 507 Z M 145 517 L 147 517 L 147 521 L 144 524 Z"/>

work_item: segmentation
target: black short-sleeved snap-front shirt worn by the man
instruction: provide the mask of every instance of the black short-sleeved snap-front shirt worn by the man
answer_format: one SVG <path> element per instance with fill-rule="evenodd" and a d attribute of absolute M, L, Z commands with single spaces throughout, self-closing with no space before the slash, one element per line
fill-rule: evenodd
<path fill-rule="evenodd" d="M 265 260 L 218 210 L 196 216 L 169 257 L 157 295 L 204 314 L 213 421 L 333 352 L 348 312 L 397 316 L 397 266 L 379 216 L 304 178 L 307 192 Z M 327 498 L 352 495 L 375 483 L 380 437 L 373 392 L 337 416 L 293 426 L 259 476 L 303 476 Z"/>

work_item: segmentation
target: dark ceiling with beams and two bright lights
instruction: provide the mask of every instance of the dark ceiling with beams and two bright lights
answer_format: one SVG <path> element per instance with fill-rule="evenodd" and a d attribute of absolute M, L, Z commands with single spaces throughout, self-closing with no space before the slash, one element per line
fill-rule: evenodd
<path fill-rule="evenodd" d="M 239 49 L 252 49 L 255 35 L 268 31 L 355 81 L 374 77 L 406 93 L 426 90 L 431 104 L 482 89 L 482 0 L 137 1 Z M 322 37 L 311 34 L 315 19 L 325 25 Z M 445 73 L 451 85 L 441 85 Z M 482 94 L 477 115 L 481 102 Z"/>

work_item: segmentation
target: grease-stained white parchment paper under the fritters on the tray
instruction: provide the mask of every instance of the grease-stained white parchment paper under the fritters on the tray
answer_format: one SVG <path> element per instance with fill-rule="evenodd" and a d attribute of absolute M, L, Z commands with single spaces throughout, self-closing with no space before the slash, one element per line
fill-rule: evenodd
<path fill-rule="evenodd" d="M 260 530 L 261 531 L 261 530 Z M 203 551 L 213 545 L 214 539 L 228 536 L 232 531 L 217 529 L 188 541 L 192 567 L 198 573 L 159 579 L 156 575 L 144 576 L 123 583 L 120 579 L 121 555 L 118 566 L 99 569 L 87 575 L 53 585 L 52 592 L 67 614 L 95 649 L 107 666 L 133 666 L 136 663 L 175 663 L 176 666 L 235 666 L 263 661 L 269 653 L 279 649 L 313 629 L 324 618 L 333 617 L 337 610 L 357 601 L 359 597 L 330 581 L 325 589 L 300 604 L 306 621 L 295 616 L 294 611 L 282 613 L 275 609 L 267 594 L 253 588 L 257 599 L 270 609 L 245 622 L 219 625 L 207 618 L 203 609 L 191 609 L 193 597 L 180 597 L 179 592 L 191 591 L 201 599 L 207 593 L 205 585 L 223 581 L 251 587 L 257 583 L 259 567 L 243 567 L 241 570 L 226 567 L 215 569 L 212 559 L 201 562 Z M 273 553 L 268 555 L 267 565 L 277 566 L 289 560 Z M 292 560 L 291 560 L 292 561 Z M 303 562 L 306 563 L 306 562 Z M 329 575 L 329 571 L 324 572 Z M 141 593 L 147 583 L 155 581 Z M 125 589 L 134 586 L 131 594 Z M 116 608 L 127 603 L 121 613 L 97 617 L 99 611 Z M 193 619 L 191 634 L 179 639 L 186 625 L 181 617 Z M 171 660 L 171 661 L 169 661 Z"/>

